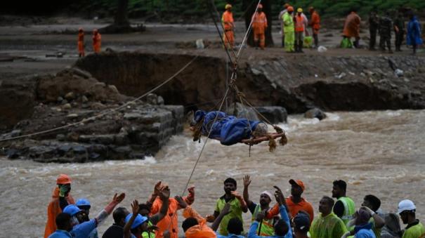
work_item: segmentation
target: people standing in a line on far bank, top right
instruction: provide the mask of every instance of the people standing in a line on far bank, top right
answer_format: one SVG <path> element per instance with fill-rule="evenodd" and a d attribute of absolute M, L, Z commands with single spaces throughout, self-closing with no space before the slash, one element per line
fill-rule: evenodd
<path fill-rule="evenodd" d="M 254 34 L 254 46 L 260 47 L 262 50 L 266 47 L 266 29 L 269 27 L 266 14 L 263 12 L 263 5 L 259 4 L 256 12 L 252 15 L 252 31 Z M 304 46 L 312 46 L 318 48 L 319 46 L 319 30 L 320 30 L 320 15 L 313 6 L 308 8 L 310 20 L 304 14 L 303 8 L 295 8 L 289 4 L 283 6 L 283 10 L 278 16 L 280 22 L 280 32 L 282 35 L 282 47 L 285 48 L 287 53 L 303 53 Z M 405 31 L 405 19 L 407 16 L 409 23 L 407 31 Z M 235 22 L 233 20 L 232 5 L 225 5 L 225 12 L 222 15 L 221 22 L 225 34 L 223 34 L 223 42 L 225 48 L 233 48 L 235 45 Z M 353 9 L 344 22 L 342 31 L 341 48 L 360 48 L 360 16 Z M 374 51 L 377 31 L 380 35 L 379 47 L 381 51 L 388 48 L 388 53 L 391 51 L 391 32 L 395 33 L 395 51 L 401 51 L 400 47 L 403 43 L 403 36 L 406 34 L 407 46 L 412 46 L 413 53 L 416 53 L 417 46 L 421 45 L 421 25 L 417 17 L 412 11 L 407 14 L 398 12 L 397 17 L 392 22 L 389 13 L 386 12 L 384 16 L 378 18 L 376 11 L 370 12 L 370 50 Z M 311 32 L 308 31 L 310 28 Z M 311 37 L 310 37 L 311 35 Z M 351 39 L 354 41 L 351 41 Z"/>

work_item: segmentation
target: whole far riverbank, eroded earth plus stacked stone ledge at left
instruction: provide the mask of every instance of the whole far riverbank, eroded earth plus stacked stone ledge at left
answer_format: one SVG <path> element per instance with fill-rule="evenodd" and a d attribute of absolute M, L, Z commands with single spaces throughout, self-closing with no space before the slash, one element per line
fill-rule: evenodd
<path fill-rule="evenodd" d="M 105 52 L 88 55 L 54 75 L 0 81 L 1 131 L 14 129 L 0 139 L 65 127 L 34 140 L 1 143 L 6 150 L 0 154 L 59 162 L 155 154 L 171 135 L 182 131 L 184 108 L 211 110 L 218 105 L 226 88 L 225 59 L 198 56 L 155 91 L 161 97 L 152 95 L 148 103 L 115 109 L 169 79 L 193 57 Z M 251 104 L 285 107 L 292 113 L 313 107 L 423 109 L 424 72 L 425 58 L 412 56 L 251 55 L 240 62 L 236 84 Z M 229 103 L 233 97 L 230 93 Z M 107 110 L 113 112 L 93 118 Z"/>

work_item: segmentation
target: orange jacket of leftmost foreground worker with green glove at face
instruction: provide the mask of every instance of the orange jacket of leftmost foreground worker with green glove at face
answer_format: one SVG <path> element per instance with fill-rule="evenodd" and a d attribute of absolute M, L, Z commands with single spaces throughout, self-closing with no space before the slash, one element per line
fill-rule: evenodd
<path fill-rule="evenodd" d="M 71 194 L 66 197 L 68 204 L 75 204 L 74 198 Z M 52 200 L 47 207 L 47 222 L 44 228 L 44 238 L 47 238 L 53 232 L 56 231 L 56 216 L 62 212 L 59 206 L 59 187 L 55 187 L 52 192 Z"/>

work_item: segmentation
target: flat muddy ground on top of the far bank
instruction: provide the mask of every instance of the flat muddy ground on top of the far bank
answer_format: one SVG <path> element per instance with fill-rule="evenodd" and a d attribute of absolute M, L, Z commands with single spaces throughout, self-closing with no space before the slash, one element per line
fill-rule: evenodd
<path fill-rule="evenodd" d="M 46 74 L 57 72 L 67 65 L 72 65 L 77 60 L 77 32 L 79 27 L 86 31 L 86 53 L 91 53 L 91 30 L 105 27 L 108 22 L 82 20 L 79 18 L 47 18 L 16 20 L 9 25 L 0 26 L 0 79 L 27 74 Z M 48 24 L 46 24 L 48 23 Z M 137 25 L 143 22 L 133 20 Z M 240 44 L 244 34 L 243 22 L 237 22 L 235 39 Z M 145 32 L 133 34 L 103 34 L 102 48 L 112 48 L 115 51 L 143 51 L 158 53 L 189 53 L 225 57 L 225 52 L 218 46 L 220 39 L 216 28 L 211 24 L 203 25 L 162 25 L 145 24 Z M 362 39 L 367 39 L 367 30 L 362 32 Z M 197 39 L 215 42 L 214 47 L 200 51 L 193 46 Z M 266 48 L 266 51 L 256 51 L 247 48 L 242 53 L 242 59 L 273 58 L 288 55 L 280 47 L 279 26 L 273 26 L 273 39 L 275 46 Z M 320 45 L 329 50 L 323 55 L 389 55 L 379 51 L 371 52 L 365 49 L 339 49 L 336 46 L 341 40 L 340 32 L 336 29 L 322 29 L 320 32 Z M 367 41 L 362 40 L 366 46 Z M 410 50 L 403 48 L 402 53 L 408 55 Z M 46 55 L 63 53 L 63 58 L 48 58 Z M 307 55 L 317 55 L 318 51 L 306 50 Z M 424 53 L 419 53 L 424 55 Z M 293 55 L 291 55 L 293 56 Z M 13 60 L 13 61 L 9 61 Z"/>

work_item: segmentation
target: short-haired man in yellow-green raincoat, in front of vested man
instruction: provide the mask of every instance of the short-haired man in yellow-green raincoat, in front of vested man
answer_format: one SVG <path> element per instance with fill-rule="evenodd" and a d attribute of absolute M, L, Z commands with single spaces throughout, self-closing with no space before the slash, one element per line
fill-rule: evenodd
<path fill-rule="evenodd" d="M 344 222 L 332 212 L 334 199 L 322 197 L 319 204 L 319 216 L 310 227 L 310 238 L 342 237 L 347 228 Z"/>

